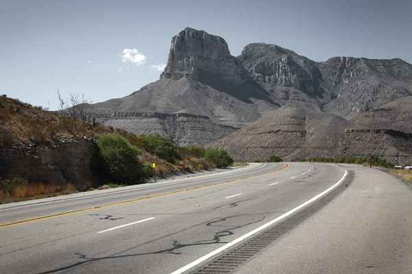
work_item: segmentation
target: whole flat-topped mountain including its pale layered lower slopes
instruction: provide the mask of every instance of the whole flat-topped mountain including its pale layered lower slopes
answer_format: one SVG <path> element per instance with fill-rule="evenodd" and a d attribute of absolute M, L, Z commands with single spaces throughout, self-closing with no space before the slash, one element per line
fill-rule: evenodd
<path fill-rule="evenodd" d="M 172 38 L 168 65 L 157 82 L 88 105 L 87 111 L 106 125 L 188 145 L 217 140 L 278 107 L 230 55 L 223 38 L 187 27 Z"/>

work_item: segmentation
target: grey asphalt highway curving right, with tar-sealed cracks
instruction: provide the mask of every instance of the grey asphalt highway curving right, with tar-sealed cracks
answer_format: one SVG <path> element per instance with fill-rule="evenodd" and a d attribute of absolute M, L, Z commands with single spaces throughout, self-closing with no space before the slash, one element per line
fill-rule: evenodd
<path fill-rule="evenodd" d="M 1 205 L 0 273 L 412 273 L 411 208 L 377 169 L 250 164 Z"/>

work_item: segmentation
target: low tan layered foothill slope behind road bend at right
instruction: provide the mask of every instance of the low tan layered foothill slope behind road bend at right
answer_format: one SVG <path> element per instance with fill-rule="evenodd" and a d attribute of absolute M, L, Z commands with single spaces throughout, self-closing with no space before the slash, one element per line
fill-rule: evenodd
<path fill-rule="evenodd" d="M 378 155 L 407 164 L 412 162 L 411 98 L 358 114 L 350 121 L 286 105 L 212 146 L 223 147 L 244 161 L 268 160 L 271 154 L 285 160 Z"/>

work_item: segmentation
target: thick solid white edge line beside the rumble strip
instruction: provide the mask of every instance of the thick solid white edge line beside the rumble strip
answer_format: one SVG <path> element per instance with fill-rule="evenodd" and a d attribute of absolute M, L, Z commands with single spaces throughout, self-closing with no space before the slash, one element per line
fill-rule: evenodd
<path fill-rule="evenodd" d="M 181 267 L 180 269 L 177 269 L 176 271 L 173 271 L 170 274 L 181 274 L 189 269 L 192 269 L 194 266 L 201 264 L 202 262 L 205 262 L 205 260 L 208 260 L 209 258 L 215 256 L 216 254 L 225 251 L 226 249 L 228 249 L 229 247 L 232 247 L 233 245 L 236 245 L 238 242 L 241 242 L 242 240 L 249 238 L 250 236 L 253 236 L 254 234 L 257 234 L 258 232 L 261 232 L 263 229 L 266 229 L 266 227 L 269 227 L 275 223 L 278 223 L 279 221 L 281 221 L 282 219 L 285 219 L 286 217 L 290 216 L 290 214 L 293 214 L 295 212 L 297 212 L 298 210 L 300 210 L 301 208 L 304 208 L 308 205 L 310 205 L 310 203 L 313 203 L 314 201 L 317 201 L 318 199 L 320 199 L 321 197 L 325 196 L 326 194 L 328 194 L 329 192 L 331 192 L 332 190 L 334 190 L 335 188 L 337 188 L 342 182 L 343 180 L 346 178 L 347 176 L 347 171 L 345 171 L 345 174 L 343 174 L 343 177 L 341 177 L 341 179 L 334 184 L 333 186 L 331 186 L 330 188 L 328 188 L 327 190 L 319 193 L 318 195 L 316 195 L 315 197 L 313 197 L 312 199 L 309 199 L 308 201 L 302 203 L 300 206 L 297 206 L 296 208 L 293 208 L 293 210 L 289 210 L 288 212 L 282 214 L 281 216 L 277 217 L 276 219 L 273 219 L 272 221 L 269 221 L 268 223 L 265 223 L 264 225 L 261 225 L 260 227 L 253 229 L 251 232 L 248 232 L 247 234 L 244 234 L 243 236 L 240 236 L 239 238 L 236 238 L 235 240 L 232 240 L 231 242 L 228 242 L 226 245 L 223 245 L 222 247 L 219 247 L 218 249 L 215 249 L 214 251 L 211 251 L 210 253 L 207 253 L 205 256 L 202 256 L 201 258 L 198 258 L 197 260 L 194 260 L 193 262 L 190 262 L 190 264 L 186 264 L 185 266 Z"/>

